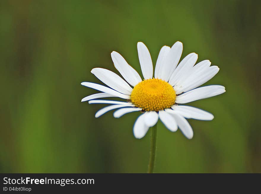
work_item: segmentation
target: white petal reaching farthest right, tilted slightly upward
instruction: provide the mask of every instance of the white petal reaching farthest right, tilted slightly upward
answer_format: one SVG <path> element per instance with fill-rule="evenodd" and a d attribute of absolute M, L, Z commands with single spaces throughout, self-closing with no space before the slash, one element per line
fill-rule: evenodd
<path fill-rule="evenodd" d="M 209 98 L 226 92 L 224 86 L 211 85 L 190 90 L 176 97 L 175 102 L 184 104 L 195 100 Z"/>

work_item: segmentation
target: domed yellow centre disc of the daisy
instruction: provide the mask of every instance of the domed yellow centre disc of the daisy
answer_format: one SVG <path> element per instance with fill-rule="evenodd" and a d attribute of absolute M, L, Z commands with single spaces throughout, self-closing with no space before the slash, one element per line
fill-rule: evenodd
<path fill-rule="evenodd" d="M 137 84 L 130 95 L 131 102 L 144 111 L 159 111 L 174 105 L 176 92 L 161 79 L 147 79 Z"/>

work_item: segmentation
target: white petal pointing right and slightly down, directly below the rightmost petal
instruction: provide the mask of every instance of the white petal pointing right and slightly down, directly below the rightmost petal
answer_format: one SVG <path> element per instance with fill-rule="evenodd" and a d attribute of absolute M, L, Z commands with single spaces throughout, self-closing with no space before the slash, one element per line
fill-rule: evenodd
<path fill-rule="evenodd" d="M 192 106 L 173 105 L 171 106 L 171 108 L 173 110 L 171 111 L 170 109 L 170 113 L 176 112 L 185 118 L 193 118 L 205 121 L 210 121 L 214 118 L 214 116 L 211 113 Z"/>

